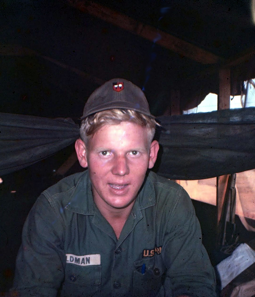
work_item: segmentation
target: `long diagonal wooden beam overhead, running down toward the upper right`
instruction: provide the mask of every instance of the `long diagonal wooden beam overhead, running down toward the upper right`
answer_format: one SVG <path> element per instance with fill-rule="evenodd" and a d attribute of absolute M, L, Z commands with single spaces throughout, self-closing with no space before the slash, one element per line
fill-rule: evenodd
<path fill-rule="evenodd" d="M 181 40 L 173 35 L 143 24 L 111 8 L 90 0 L 67 0 L 67 2 L 79 10 L 98 17 L 121 29 L 150 40 L 157 45 L 170 49 L 181 56 L 185 56 L 202 64 L 215 64 L 222 59 L 215 54 L 201 49 L 191 43 Z"/>

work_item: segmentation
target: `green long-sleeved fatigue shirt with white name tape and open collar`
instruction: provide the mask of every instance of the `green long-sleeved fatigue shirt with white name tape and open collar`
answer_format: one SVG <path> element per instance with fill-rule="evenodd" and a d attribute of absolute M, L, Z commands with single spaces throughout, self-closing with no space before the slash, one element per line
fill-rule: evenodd
<path fill-rule="evenodd" d="M 215 297 L 192 201 L 150 172 L 120 238 L 93 201 L 88 172 L 44 191 L 25 222 L 13 290 L 36 297 Z"/>

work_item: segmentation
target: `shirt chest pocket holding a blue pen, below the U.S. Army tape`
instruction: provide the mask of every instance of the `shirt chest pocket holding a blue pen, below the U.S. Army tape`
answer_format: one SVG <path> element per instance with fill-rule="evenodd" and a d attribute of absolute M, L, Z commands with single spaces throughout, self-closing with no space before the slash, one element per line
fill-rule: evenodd
<path fill-rule="evenodd" d="M 133 274 L 133 297 L 164 296 L 165 268 L 161 256 L 136 261 Z"/>

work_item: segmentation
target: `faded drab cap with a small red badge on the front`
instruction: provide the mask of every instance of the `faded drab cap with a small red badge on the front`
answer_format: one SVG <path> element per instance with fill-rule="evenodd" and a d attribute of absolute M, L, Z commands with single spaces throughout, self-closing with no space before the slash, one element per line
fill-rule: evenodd
<path fill-rule="evenodd" d="M 114 78 L 96 89 L 87 100 L 81 119 L 106 109 L 131 109 L 154 117 L 144 92 L 123 78 Z"/>

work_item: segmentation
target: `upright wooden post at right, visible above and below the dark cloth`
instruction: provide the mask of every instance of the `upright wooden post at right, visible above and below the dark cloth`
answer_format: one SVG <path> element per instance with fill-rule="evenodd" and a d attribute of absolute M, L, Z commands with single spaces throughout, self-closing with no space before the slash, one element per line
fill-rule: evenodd
<path fill-rule="evenodd" d="M 222 68 L 219 70 L 219 94 L 218 94 L 218 110 L 230 108 L 230 69 Z M 229 175 L 217 177 L 217 194 L 216 194 L 216 207 L 217 207 L 217 235 L 220 234 L 220 219 L 222 215 L 222 208 L 227 189 Z"/>

